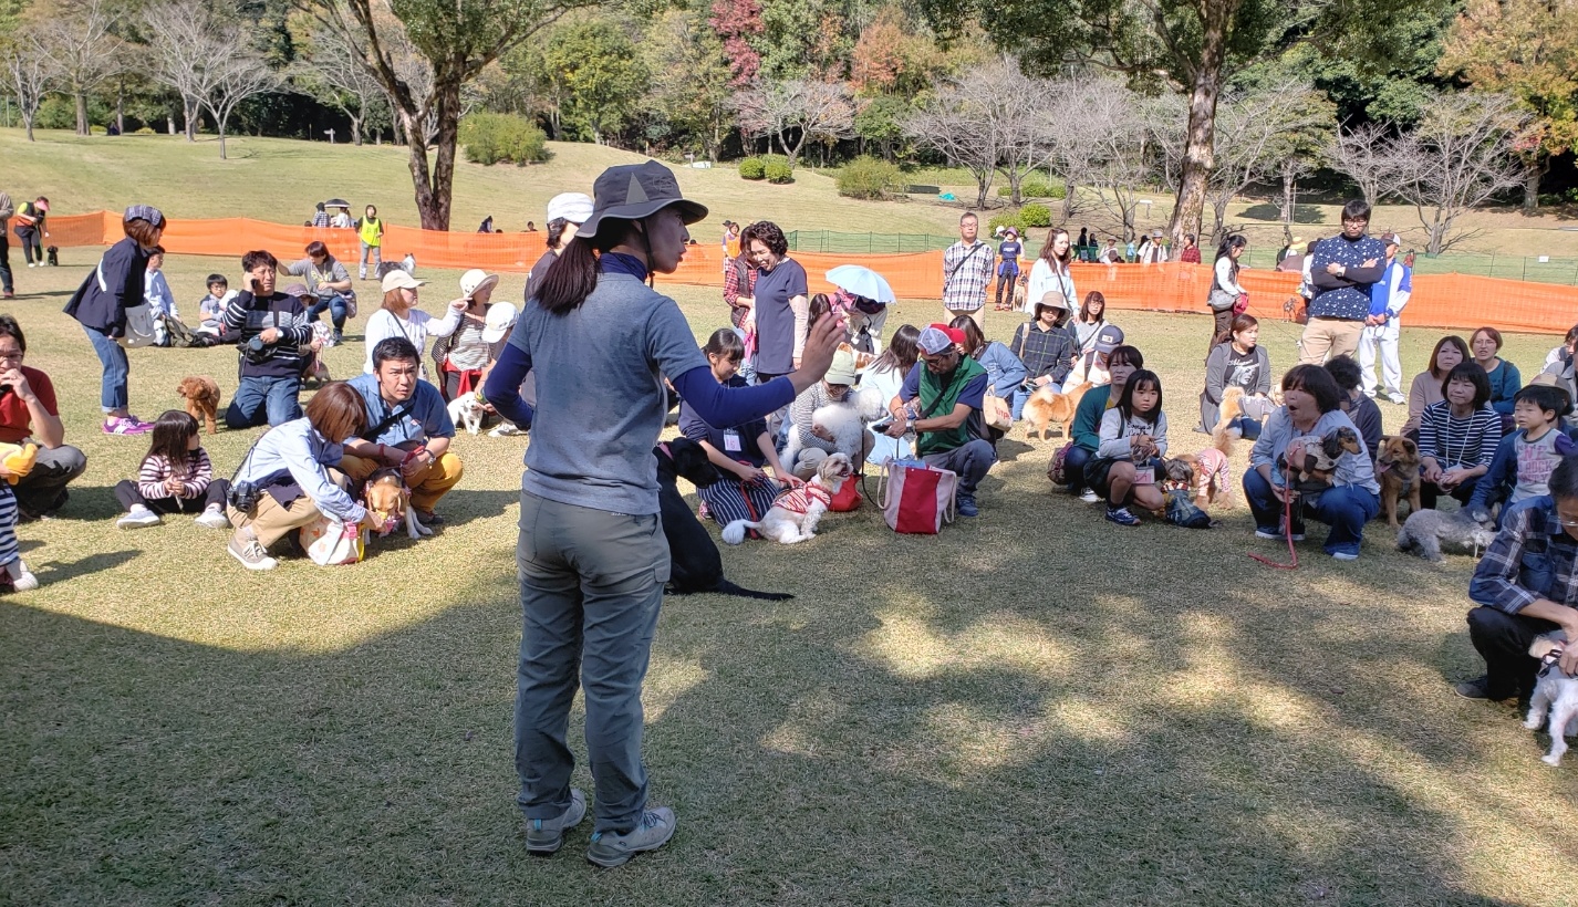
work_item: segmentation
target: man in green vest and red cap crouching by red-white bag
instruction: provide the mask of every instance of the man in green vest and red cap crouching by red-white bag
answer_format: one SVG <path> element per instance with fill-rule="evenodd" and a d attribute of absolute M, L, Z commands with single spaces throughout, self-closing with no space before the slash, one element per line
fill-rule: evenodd
<path fill-rule="evenodd" d="M 980 516 L 975 489 L 997 462 L 982 407 L 991 386 L 986 369 L 964 355 L 964 331 L 931 325 L 920 331 L 920 363 L 888 401 L 893 423 L 888 437 L 915 434 L 915 451 L 926 465 L 958 473 L 955 506 L 959 516 Z"/>

